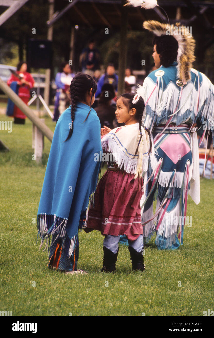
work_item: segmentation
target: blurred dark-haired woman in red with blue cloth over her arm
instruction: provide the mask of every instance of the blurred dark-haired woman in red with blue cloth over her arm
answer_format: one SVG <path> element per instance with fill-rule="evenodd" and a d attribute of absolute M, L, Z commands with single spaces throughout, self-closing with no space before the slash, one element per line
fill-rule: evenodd
<path fill-rule="evenodd" d="M 27 64 L 22 61 L 17 65 L 17 71 L 12 71 L 12 75 L 7 81 L 8 86 L 19 95 L 26 104 L 30 99 L 30 89 L 34 86 L 34 79 L 27 72 Z M 8 99 L 7 111 L 8 116 L 14 117 L 14 123 L 25 124 L 25 114 Z"/>

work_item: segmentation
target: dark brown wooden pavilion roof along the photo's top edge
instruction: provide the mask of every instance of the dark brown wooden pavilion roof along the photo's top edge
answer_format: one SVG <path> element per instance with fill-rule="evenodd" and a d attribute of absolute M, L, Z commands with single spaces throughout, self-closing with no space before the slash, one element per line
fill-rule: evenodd
<path fill-rule="evenodd" d="M 158 0 L 169 17 L 170 23 L 176 20 L 177 7 L 180 7 L 181 19 L 186 26 L 194 25 L 200 29 L 213 29 L 214 26 L 214 1 L 199 0 Z M 55 11 L 67 7 L 66 14 L 74 25 L 88 27 L 119 28 L 121 26 L 121 0 L 55 0 Z M 68 8 L 69 7 L 69 8 Z M 140 7 L 126 6 L 128 11 L 128 28 L 141 30 L 145 20 L 158 20 L 164 22 L 165 13 L 157 6 L 154 9 L 141 9 Z M 178 21 L 178 20 L 177 20 Z"/>

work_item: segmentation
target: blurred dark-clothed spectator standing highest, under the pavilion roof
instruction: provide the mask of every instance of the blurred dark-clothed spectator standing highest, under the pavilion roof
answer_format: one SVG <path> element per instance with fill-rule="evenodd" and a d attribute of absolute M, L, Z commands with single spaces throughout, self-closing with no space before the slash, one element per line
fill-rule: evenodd
<path fill-rule="evenodd" d="M 95 46 L 96 42 L 91 40 L 88 43 L 88 47 L 84 48 L 80 54 L 79 65 L 83 73 L 85 73 L 86 70 L 95 71 L 99 68 L 100 52 Z"/>

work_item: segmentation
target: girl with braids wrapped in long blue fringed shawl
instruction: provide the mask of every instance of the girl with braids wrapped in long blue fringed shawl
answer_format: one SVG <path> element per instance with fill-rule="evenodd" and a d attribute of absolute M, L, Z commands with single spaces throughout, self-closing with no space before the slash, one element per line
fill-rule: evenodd
<path fill-rule="evenodd" d="M 38 207 L 41 246 L 52 235 L 48 266 L 66 273 L 84 272 L 77 270 L 78 229 L 96 190 L 100 162 L 94 153 L 102 151 L 100 121 L 91 108 L 96 90 L 89 75 L 78 73 L 71 81 L 71 105 L 56 124 Z"/>

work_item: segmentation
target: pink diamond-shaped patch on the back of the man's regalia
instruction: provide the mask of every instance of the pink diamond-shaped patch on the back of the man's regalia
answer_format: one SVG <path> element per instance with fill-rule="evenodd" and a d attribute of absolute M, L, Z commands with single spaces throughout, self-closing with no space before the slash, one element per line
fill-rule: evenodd
<path fill-rule="evenodd" d="M 191 150 L 189 145 L 179 134 L 170 134 L 170 136 L 161 144 L 160 148 L 175 164 Z"/>

